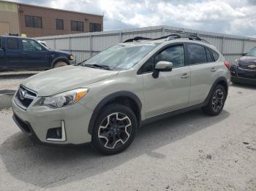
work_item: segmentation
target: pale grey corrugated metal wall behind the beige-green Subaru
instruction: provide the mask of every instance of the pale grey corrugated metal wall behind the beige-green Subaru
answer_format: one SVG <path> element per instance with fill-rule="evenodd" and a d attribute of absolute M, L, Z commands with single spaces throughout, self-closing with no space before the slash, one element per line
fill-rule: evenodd
<path fill-rule="evenodd" d="M 243 53 L 252 49 L 252 47 L 256 47 L 256 39 L 246 36 L 217 34 L 170 26 L 154 26 L 86 34 L 45 36 L 35 39 L 45 41 L 48 47 L 72 52 L 75 55 L 77 62 L 79 62 L 91 57 L 91 55 L 94 55 L 107 47 L 124 42 L 126 39 L 130 39 L 135 36 L 157 38 L 168 34 L 193 34 L 200 36 L 202 39 L 206 39 L 211 44 L 214 44 L 214 46 L 222 52 L 226 60 L 231 63 L 233 63 L 236 58 L 241 57 Z"/>

